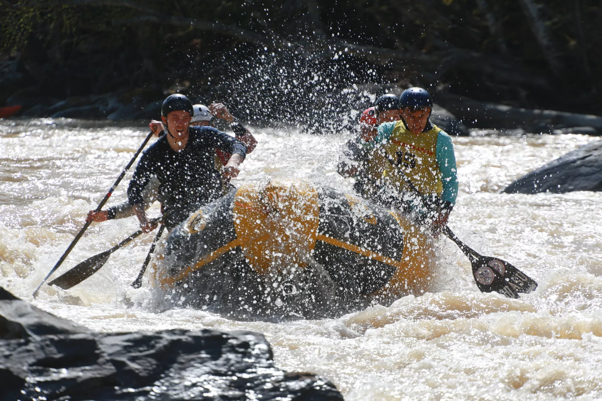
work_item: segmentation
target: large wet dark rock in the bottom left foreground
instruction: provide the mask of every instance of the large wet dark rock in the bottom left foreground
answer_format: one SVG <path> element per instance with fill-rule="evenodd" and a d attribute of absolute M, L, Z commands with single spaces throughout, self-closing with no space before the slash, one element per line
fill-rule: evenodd
<path fill-rule="evenodd" d="M 310 373 L 274 366 L 263 335 L 99 334 L 0 288 L 0 400 L 343 400 Z"/>

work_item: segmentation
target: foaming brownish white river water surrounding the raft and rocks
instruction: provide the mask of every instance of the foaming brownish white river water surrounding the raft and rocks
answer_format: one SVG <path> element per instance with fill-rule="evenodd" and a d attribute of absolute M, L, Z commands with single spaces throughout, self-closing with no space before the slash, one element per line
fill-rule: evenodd
<path fill-rule="evenodd" d="M 85 121 L 0 121 L 0 286 L 28 301 L 146 135 Z M 351 190 L 335 171 L 347 136 L 253 130 L 259 145 L 235 185 L 303 178 Z M 480 293 L 470 263 L 437 245 L 429 293 L 339 319 L 238 322 L 199 310 L 156 313 L 135 290 L 153 234 L 117 251 L 68 291 L 43 286 L 34 305 L 107 331 L 250 329 L 285 370 L 318 373 L 346 400 L 602 399 L 602 194 L 506 195 L 524 173 L 598 140 L 585 135 L 454 138 L 460 192 L 450 227 L 483 254 L 539 283 L 508 299 Z M 109 204 L 125 199 L 129 177 Z M 151 215 L 158 215 L 157 205 Z M 59 272 L 137 230 L 135 218 L 93 224 Z M 54 276 L 56 277 L 56 276 Z"/>

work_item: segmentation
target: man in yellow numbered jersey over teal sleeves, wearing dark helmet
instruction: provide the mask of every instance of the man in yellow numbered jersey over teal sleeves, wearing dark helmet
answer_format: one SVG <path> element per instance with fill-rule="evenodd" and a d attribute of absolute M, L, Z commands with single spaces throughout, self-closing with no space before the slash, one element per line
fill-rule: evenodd
<path fill-rule="evenodd" d="M 417 212 L 438 231 L 447 225 L 458 195 L 452 138 L 430 123 L 433 101 L 426 90 L 405 90 L 399 109 L 401 120 L 380 124 L 373 141 L 384 156 L 377 200 Z"/>

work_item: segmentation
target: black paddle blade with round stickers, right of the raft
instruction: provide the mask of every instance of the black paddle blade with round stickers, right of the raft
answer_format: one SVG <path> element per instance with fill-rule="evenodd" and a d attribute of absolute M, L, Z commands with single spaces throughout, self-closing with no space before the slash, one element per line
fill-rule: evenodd
<path fill-rule="evenodd" d="M 518 293 L 535 291 L 535 280 L 495 257 L 480 256 L 472 259 L 474 281 L 481 292 L 498 292 L 508 298 L 520 298 Z"/>

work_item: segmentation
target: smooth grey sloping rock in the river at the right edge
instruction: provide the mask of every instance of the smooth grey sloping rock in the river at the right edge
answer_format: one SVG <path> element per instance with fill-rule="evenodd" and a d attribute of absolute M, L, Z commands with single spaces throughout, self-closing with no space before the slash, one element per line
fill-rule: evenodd
<path fill-rule="evenodd" d="M 602 141 L 580 147 L 532 171 L 504 189 L 506 194 L 602 191 Z"/>

